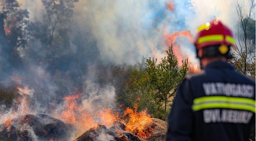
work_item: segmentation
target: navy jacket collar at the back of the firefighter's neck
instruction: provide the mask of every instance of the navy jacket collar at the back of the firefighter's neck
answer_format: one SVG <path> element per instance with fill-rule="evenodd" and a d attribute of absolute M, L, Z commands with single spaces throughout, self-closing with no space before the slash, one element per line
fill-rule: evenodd
<path fill-rule="evenodd" d="M 235 70 L 235 68 L 231 64 L 229 64 L 228 62 L 223 62 L 223 61 L 211 62 L 205 67 L 205 70 L 207 70 L 207 69 L 230 69 L 230 70 Z"/>

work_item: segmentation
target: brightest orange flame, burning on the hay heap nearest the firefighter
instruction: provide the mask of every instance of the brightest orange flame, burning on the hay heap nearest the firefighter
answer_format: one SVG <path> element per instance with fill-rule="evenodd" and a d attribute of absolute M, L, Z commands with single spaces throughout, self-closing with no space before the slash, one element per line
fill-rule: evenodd
<path fill-rule="evenodd" d="M 123 117 L 128 115 L 130 117 L 128 123 L 126 124 L 125 130 L 132 132 L 140 138 L 148 138 L 152 135 L 154 129 L 151 127 L 153 121 L 150 115 L 147 114 L 147 109 L 141 112 L 137 112 L 138 105 L 134 105 L 134 110 L 132 108 L 127 108 L 124 111 Z"/>

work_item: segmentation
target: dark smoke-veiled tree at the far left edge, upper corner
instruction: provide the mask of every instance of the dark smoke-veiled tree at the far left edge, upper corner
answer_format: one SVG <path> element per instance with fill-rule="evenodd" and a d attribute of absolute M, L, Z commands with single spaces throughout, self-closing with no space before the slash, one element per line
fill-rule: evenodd
<path fill-rule="evenodd" d="M 21 58 L 28 38 L 28 11 L 19 9 L 16 0 L 0 0 L 0 46 L 4 69 L 22 67 Z M 6 66 L 6 67 L 5 67 Z M 7 68 L 8 66 L 8 68 Z M 8 70 L 9 71 L 9 70 Z"/>

